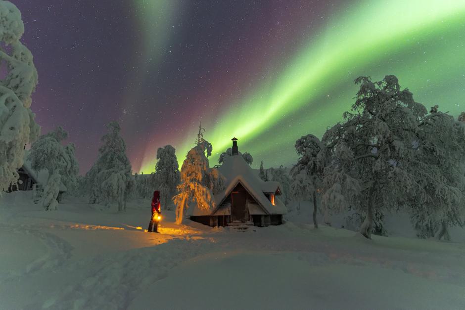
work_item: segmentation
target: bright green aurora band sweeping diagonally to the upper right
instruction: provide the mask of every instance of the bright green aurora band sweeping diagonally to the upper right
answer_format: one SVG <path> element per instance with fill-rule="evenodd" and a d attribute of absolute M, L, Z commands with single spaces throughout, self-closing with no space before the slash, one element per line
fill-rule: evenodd
<path fill-rule="evenodd" d="M 457 116 L 465 110 L 465 1 L 364 1 L 334 14 L 318 36 L 256 89 L 231 102 L 222 115 L 202 120 L 213 145 L 213 166 L 238 140 L 239 151 L 254 157 L 253 167 L 289 166 L 302 135 L 322 136 L 342 120 L 353 103 L 361 75 L 394 74 L 426 107 L 439 104 Z M 198 126 L 198 125 L 197 125 Z M 181 143 L 173 141 L 181 164 L 193 146 L 191 125 Z M 156 154 L 145 154 L 140 171 L 153 171 Z"/>

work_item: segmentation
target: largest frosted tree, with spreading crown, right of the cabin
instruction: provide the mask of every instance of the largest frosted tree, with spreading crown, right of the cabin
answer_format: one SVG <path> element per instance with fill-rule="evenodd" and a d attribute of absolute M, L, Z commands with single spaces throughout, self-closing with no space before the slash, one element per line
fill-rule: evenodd
<path fill-rule="evenodd" d="M 380 82 L 359 77 L 355 83 L 360 89 L 344 123 L 323 137 L 333 156 L 325 169 L 323 203 L 355 208 L 364 217 L 360 232 L 371 238 L 376 213 L 406 205 L 418 190 L 413 142 L 426 109 L 401 90 L 395 76 Z"/>

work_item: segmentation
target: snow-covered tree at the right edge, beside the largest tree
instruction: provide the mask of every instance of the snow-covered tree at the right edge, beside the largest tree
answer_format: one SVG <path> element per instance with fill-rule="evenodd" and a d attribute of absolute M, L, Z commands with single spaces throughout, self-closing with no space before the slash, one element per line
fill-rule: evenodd
<path fill-rule="evenodd" d="M 434 106 L 419 127 L 419 190 L 411 202 L 412 221 L 419 237 L 450 239 L 448 227 L 464 224 L 464 126 Z"/>

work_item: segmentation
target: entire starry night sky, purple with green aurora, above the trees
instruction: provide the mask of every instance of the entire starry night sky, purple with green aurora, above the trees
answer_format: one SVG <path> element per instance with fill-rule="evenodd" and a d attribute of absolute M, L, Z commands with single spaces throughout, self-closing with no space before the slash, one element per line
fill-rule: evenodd
<path fill-rule="evenodd" d="M 39 72 L 32 110 L 62 126 L 81 174 L 118 120 L 133 171 L 178 160 L 201 121 L 218 155 L 289 166 L 353 103 L 360 75 L 394 74 L 427 108 L 465 110 L 465 1 L 12 0 Z M 387 3 L 389 2 L 389 3 Z"/>

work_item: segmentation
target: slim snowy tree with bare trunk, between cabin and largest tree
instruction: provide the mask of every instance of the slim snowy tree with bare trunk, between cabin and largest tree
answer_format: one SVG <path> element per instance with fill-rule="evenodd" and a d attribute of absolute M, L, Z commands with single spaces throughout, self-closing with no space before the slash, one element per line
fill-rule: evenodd
<path fill-rule="evenodd" d="M 303 201 L 313 201 L 313 224 L 318 228 L 318 202 L 323 190 L 326 149 L 319 138 L 307 134 L 295 141 L 295 150 L 300 158 L 290 171 L 293 195 Z"/>

